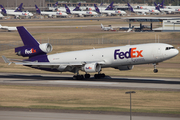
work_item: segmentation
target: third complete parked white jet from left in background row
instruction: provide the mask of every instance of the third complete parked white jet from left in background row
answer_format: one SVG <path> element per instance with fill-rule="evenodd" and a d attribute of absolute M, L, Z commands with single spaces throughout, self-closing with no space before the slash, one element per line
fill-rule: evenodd
<path fill-rule="evenodd" d="M 71 11 L 67 5 L 65 4 L 65 8 L 66 8 L 66 13 L 67 14 L 73 14 L 73 15 L 78 15 L 78 16 L 94 16 L 97 15 L 96 12 L 93 11 Z"/>

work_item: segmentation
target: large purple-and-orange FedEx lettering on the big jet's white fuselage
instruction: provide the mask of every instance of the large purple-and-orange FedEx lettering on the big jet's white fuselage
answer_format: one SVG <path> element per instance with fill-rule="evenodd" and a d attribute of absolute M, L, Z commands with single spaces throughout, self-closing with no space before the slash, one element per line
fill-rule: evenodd
<path fill-rule="evenodd" d="M 128 59 L 128 58 L 138 58 L 143 57 L 142 52 L 143 50 L 136 50 L 137 48 L 130 48 L 129 51 L 121 52 L 120 49 L 116 49 L 114 51 L 114 59 Z"/>

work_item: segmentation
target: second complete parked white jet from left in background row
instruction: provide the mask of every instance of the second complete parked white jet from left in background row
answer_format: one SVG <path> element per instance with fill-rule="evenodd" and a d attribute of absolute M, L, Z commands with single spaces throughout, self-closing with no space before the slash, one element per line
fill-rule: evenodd
<path fill-rule="evenodd" d="M 64 12 L 60 12 L 60 11 L 57 11 L 57 12 L 41 12 L 41 10 L 37 7 L 37 5 L 35 5 L 35 8 L 36 8 L 36 12 L 40 15 L 48 15 L 49 17 L 52 17 L 52 16 L 67 16 L 66 13 Z"/>

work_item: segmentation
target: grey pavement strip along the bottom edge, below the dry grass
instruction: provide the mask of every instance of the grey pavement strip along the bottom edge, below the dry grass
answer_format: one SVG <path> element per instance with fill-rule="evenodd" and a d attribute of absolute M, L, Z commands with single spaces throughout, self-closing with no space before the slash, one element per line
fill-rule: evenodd
<path fill-rule="evenodd" d="M 129 115 L 0 111 L 1 120 L 128 120 Z M 132 116 L 133 120 L 179 120 L 178 117 Z"/>

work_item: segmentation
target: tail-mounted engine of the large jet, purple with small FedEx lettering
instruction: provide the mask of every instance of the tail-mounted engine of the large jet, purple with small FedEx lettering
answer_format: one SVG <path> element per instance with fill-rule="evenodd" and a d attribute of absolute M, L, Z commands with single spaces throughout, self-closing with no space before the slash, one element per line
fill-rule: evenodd
<path fill-rule="evenodd" d="M 15 53 L 18 56 L 32 57 L 40 54 L 46 54 L 52 51 L 52 45 L 49 43 L 39 44 L 39 46 L 22 46 L 15 48 Z"/>

